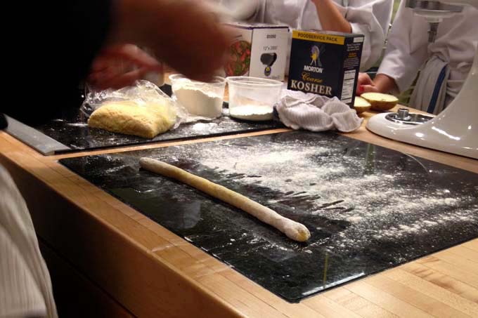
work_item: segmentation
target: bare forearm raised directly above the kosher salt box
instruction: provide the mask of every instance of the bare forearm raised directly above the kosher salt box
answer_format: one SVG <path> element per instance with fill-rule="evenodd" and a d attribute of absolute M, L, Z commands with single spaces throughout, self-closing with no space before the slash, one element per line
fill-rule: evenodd
<path fill-rule="evenodd" d="M 342 16 L 332 0 L 312 0 L 325 31 L 351 32 L 350 23 Z"/>

